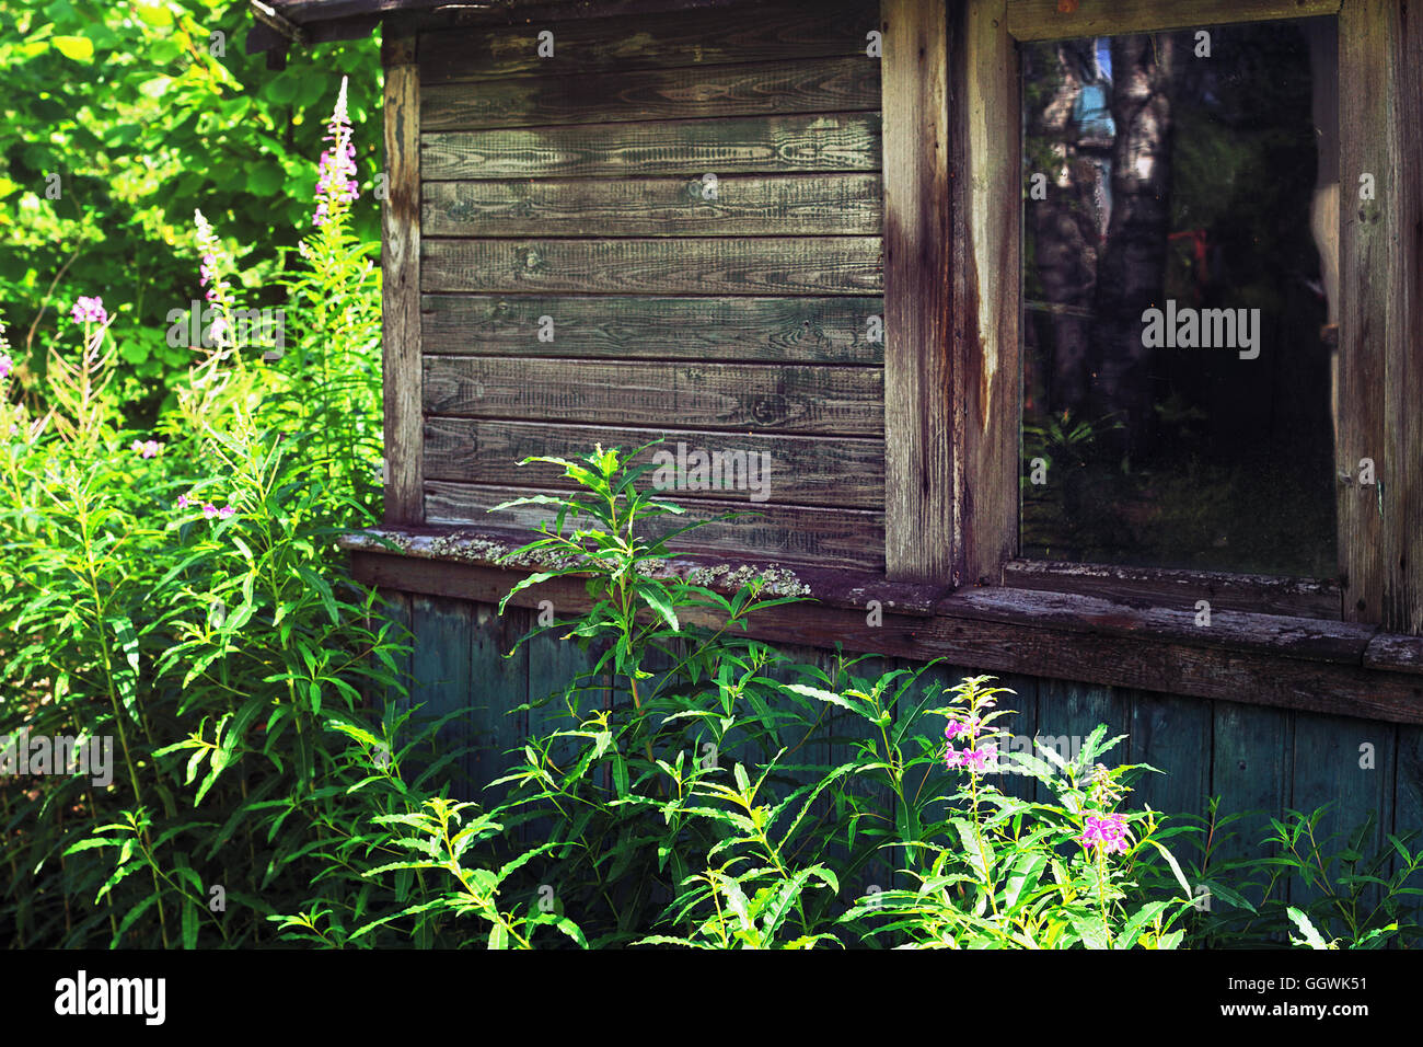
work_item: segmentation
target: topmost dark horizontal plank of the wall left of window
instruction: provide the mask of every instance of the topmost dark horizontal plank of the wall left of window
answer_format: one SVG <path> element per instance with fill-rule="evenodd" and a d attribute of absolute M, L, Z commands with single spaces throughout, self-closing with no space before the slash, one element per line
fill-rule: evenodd
<path fill-rule="evenodd" d="M 440 30 L 420 36 L 423 83 L 568 75 L 630 68 L 864 56 L 878 28 L 878 6 L 864 0 L 754 11 L 663 11 L 635 19 Z M 554 33 L 541 58 L 538 34 Z"/>

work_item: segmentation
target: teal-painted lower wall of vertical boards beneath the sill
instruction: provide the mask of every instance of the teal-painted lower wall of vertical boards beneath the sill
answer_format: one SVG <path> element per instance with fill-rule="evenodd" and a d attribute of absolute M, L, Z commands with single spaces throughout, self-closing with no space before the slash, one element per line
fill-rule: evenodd
<path fill-rule="evenodd" d="M 464 711 L 450 739 L 480 748 L 464 765 L 477 783 L 498 778 L 511 761 L 504 751 L 522 745 L 527 732 L 544 719 L 561 715 L 555 707 L 505 714 L 562 691 L 575 672 L 592 664 L 573 641 L 548 635 L 504 658 L 532 627 L 534 613 L 527 608 L 509 607 L 501 618 L 481 603 L 400 593 L 390 598 L 396 617 L 418 641 L 407 664 L 414 681 L 411 701 L 441 715 Z M 810 647 L 780 650 L 822 667 L 834 657 Z M 894 658 L 871 665 L 882 671 L 918 668 Z M 872 675 L 868 667 L 857 674 Z M 928 678 L 952 685 L 978 674 L 975 667 L 938 667 Z M 1128 735 L 1113 751 L 1111 762 L 1151 764 L 1165 772 L 1148 775 L 1130 798 L 1131 806 L 1150 803 L 1168 813 L 1204 815 L 1208 798 L 1220 796 L 1222 813 L 1261 809 L 1281 816 L 1291 808 L 1308 812 L 1333 803 L 1319 836 L 1349 832 L 1372 816 L 1366 850 L 1386 848 L 1389 833 L 1423 829 L 1423 726 L 1022 675 L 1002 675 L 1000 682 L 1017 692 L 1002 704 L 1019 714 L 1007 725 L 1013 734 L 1086 736 L 1097 724 L 1107 724 L 1113 735 Z M 845 746 L 848 742 L 841 742 L 840 748 Z M 835 755 L 832 748 L 827 745 L 818 755 L 828 761 Z M 1032 796 L 1035 783 L 1007 778 L 1005 788 Z M 467 795 L 488 802 L 492 793 L 467 786 Z M 887 796 L 887 815 L 889 805 L 892 798 Z M 1254 818 L 1237 828 L 1244 839 L 1224 846 L 1220 856 L 1258 855 L 1254 845 L 1268 821 Z M 1342 850 L 1343 839 L 1332 849 Z"/>

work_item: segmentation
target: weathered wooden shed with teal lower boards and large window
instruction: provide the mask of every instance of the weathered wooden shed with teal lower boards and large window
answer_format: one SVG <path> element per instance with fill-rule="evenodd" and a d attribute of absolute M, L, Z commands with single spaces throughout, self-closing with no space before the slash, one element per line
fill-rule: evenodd
<path fill-rule="evenodd" d="M 468 709 L 484 744 L 478 776 L 494 776 L 498 752 L 528 726 L 504 709 L 585 658 L 552 638 L 501 657 L 541 600 L 564 613 L 583 595 L 546 585 L 498 617 L 521 575 L 495 560 L 536 517 L 487 510 L 559 483 L 517 467 L 525 456 L 666 436 L 672 449 L 774 463 L 757 504 L 670 493 L 706 519 L 760 513 L 694 533 L 680 567 L 750 567 L 814 597 L 756 624 L 757 635 L 805 658 L 828 658 L 838 641 L 891 664 L 946 658 L 999 674 L 1042 735 L 1097 722 L 1128 734 L 1123 756 L 1170 772 L 1144 786 L 1157 809 L 1200 812 L 1210 795 L 1227 811 L 1335 802 L 1329 828 L 1372 815 L 1375 843 L 1423 828 L 1423 19 L 1406 0 L 272 9 L 249 48 L 277 60 L 293 41 L 383 27 L 387 520 L 350 547 L 356 575 L 387 590 L 417 637 L 416 701 Z M 1033 201 L 1069 184 L 1096 192 L 1107 232 L 1084 242 L 1099 252 L 1099 302 L 1143 265 L 1195 266 L 1178 296 L 1210 302 L 1232 249 L 1228 225 L 1201 219 L 1161 248 L 1184 262 L 1138 259 L 1114 276 L 1110 252 L 1093 245 L 1110 239 L 1111 221 L 1141 214 L 1130 197 L 1140 187 L 1100 147 L 1109 121 L 1097 103 L 1096 137 L 1053 138 L 1062 167 L 1035 182 L 1025 135 L 1057 111 L 1042 98 L 1077 80 L 1100 95 L 1114 78 L 1120 127 L 1150 110 L 1163 57 L 1128 67 L 1137 53 L 1110 40 L 1185 31 L 1184 68 L 1202 40 L 1202 61 L 1228 61 L 1241 38 L 1231 27 L 1301 19 L 1323 27 L 1329 50 L 1291 44 L 1279 61 L 1315 61 L 1313 118 L 1335 121 L 1319 131 L 1319 177 L 1338 218 L 1316 192 L 1318 272 L 1301 262 L 1276 298 L 1284 313 L 1299 312 L 1288 303 L 1305 283 L 1328 298 L 1328 315 L 1319 305 L 1309 322 L 1326 329 L 1332 356 L 1318 350 L 1309 366 L 1326 390 L 1333 368 L 1333 432 L 1322 393 L 1311 403 L 1326 413 L 1306 429 L 1328 457 L 1323 547 L 1336 563 L 1305 574 L 1029 550 L 1029 472 L 1049 459 L 1063 467 L 1073 446 L 1059 434 L 1056 457 L 1042 459 L 1025 447 L 1040 380 L 1029 346 L 1054 318 L 1093 308 L 1044 275 L 1052 229 L 1025 218 Z M 1063 40 L 1107 43 L 1043 50 Z M 1056 80 L 1025 91 L 1029 66 L 1053 63 Z M 1202 97 L 1227 90 L 1225 67 L 1192 68 L 1181 75 L 1204 78 Z M 1291 75 L 1272 80 L 1288 87 Z M 1131 108 L 1140 83 L 1146 101 Z M 1295 104 L 1281 98 L 1239 107 Z M 1062 111 L 1059 127 L 1072 105 Z M 1248 130 L 1259 118 L 1249 113 L 1232 127 Z M 1221 162 L 1198 151 L 1183 131 L 1178 167 Z M 1113 174 L 1073 182 L 1069 167 L 1089 161 Z M 1285 194 L 1286 175 L 1266 171 L 1251 191 Z M 1151 204 L 1150 185 L 1140 201 Z M 1039 269 L 1025 278 L 1027 235 Z M 1247 370 L 1242 349 L 1232 373 L 1299 373 L 1291 360 L 1305 353 L 1289 352 L 1266 338 L 1266 365 Z M 1190 359 L 1153 363 L 1147 392 Z M 1052 358 L 1053 397 L 1070 396 L 1072 366 L 1066 350 Z M 1093 365 L 1089 385 L 1107 369 Z M 1229 382 L 1215 386 L 1218 413 L 1239 416 L 1220 407 Z M 1281 426 L 1294 417 L 1286 393 L 1272 407 Z M 1053 417 L 1076 410 L 1062 402 Z M 1164 403 L 1138 420 L 1164 424 Z M 1288 497 L 1281 487 L 1266 501 Z M 1229 560 L 1220 538 L 1201 548 Z"/>

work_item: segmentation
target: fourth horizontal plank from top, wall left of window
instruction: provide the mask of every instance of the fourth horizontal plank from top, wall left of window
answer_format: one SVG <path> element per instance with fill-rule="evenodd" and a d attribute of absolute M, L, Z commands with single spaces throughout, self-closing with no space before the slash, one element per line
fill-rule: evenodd
<path fill-rule="evenodd" d="M 877 174 L 425 182 L 425 236 L 879 235 Z"/>

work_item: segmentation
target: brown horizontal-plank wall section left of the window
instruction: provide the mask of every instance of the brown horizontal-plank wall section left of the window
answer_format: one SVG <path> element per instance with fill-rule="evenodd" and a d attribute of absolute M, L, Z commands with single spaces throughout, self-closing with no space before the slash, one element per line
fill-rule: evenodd
<path fill-rule="evenodd" d="M 675 491 L 758 513 L 700 548 L 882 568 L 878 17 L 420 36 L 425 523 L 527 524 L 485 513 L 564 481 L 519 459 L 666 436 L 770 454 L 767 500 Z"/>

